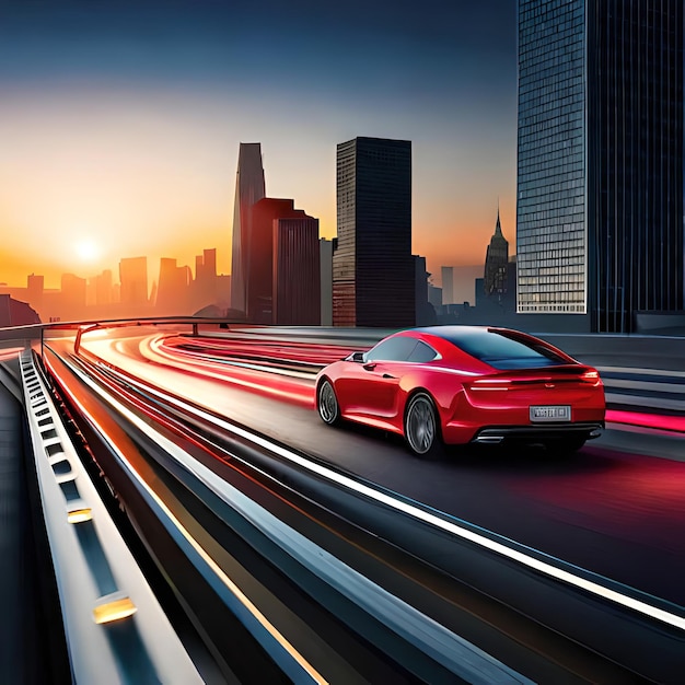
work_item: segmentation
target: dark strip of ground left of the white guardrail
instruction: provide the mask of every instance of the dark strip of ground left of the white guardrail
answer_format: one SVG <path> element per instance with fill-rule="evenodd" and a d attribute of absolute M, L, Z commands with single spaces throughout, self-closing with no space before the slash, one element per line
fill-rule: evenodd
<path fill-rule="evenodd" d="M 16 362 L 0 364 L 0 682 L 71 682 Z M 20 395 L 21 396 L 21 395 Z M 28 455 L 28 456 L 27 456 Z"/>

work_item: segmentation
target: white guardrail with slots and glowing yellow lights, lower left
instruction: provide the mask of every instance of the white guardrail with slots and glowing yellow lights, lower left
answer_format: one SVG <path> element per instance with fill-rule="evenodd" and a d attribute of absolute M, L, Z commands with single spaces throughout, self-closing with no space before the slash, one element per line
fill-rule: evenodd
<path fill-rule="evenodd" d="M 20 367 L 72 680 L 202 682 L 81 464 L 33 352 Z"/>

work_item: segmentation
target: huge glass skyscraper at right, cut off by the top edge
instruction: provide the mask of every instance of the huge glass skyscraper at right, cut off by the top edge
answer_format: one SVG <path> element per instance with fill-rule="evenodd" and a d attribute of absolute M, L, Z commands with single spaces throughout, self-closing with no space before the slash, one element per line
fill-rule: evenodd
<path fill-rule="evenodd" d="M 682 0 L 519 0 L 518 312 L 683 309 Z"/>

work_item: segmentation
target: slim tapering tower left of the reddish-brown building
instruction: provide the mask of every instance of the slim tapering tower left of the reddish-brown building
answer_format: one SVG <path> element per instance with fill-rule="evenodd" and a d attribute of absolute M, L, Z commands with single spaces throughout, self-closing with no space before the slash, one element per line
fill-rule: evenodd
<path fill-rule="evenodd" d="M 235 205 L 233 207 L 233 253 L 231 307 L 247 310 L 247 279 L 252 243 L 252 206 L 265 197 L 262 143 L 241 142 L 237 155 Z"/>

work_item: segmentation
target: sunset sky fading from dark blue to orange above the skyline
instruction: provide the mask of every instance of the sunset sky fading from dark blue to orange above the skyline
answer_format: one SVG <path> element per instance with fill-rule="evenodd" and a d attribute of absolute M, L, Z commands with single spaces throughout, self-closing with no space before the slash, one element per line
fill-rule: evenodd
<path fill-rule="evenodd" d="M 118 278 L 121 257 L 230 272 L 239 143 L 267 195 L 336 234 L 336 144 L 413 141 L 414 252 L 515 245 L 514 0 L 3 0 L 0 281 Z"/>

